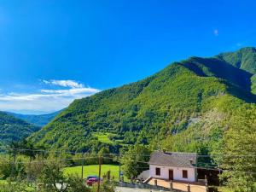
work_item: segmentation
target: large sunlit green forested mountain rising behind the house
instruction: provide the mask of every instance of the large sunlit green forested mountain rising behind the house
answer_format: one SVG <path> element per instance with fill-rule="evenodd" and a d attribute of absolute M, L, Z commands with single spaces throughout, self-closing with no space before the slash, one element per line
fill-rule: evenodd
<path fill-rule="evenodd" d="M 74 151 L 143 143 L 217 153 L 236 119 L 256 111 L 255 69 L 254 48 L 191 57 L 147 79 L 75 100 L 31 139 Z"/>

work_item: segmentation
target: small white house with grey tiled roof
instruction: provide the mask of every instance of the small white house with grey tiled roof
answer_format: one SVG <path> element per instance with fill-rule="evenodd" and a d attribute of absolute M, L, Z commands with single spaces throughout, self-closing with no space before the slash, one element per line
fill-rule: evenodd
<path fill-rule="evenodd" d="M 151 154 L 149 177 L 184 182 L 197 181 L 195 153 L 155 151 Z"/>

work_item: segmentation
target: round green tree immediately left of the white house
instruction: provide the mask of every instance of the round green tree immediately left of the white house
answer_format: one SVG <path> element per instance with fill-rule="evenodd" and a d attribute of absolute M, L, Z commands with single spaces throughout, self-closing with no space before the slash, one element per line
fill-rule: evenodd
<path fill-rule="evenodd" d="M 131 146 L 121 157 L 121 163 L 125 175 L 128 178 L 137 177 L 141 172 L 148 169 L 150 150 L 143 145 Z"/>

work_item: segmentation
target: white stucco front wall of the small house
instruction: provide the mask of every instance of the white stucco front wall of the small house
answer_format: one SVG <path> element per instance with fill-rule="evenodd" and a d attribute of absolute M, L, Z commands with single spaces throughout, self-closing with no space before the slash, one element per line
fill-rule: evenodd
<path fill-rule="evenodd" d="M 160 176 L 155 175 L 155 168 L 160 168 Z M 195 182 L 195 168 L 173 167 L 173 166 L 154 166 L 149 165 L 149 176 L 154 178 L 169 179 L 169 169 L 173 170 L 173 180 Z M 183 170 L 188 171 L 188 178 L 183 178 Z"/>

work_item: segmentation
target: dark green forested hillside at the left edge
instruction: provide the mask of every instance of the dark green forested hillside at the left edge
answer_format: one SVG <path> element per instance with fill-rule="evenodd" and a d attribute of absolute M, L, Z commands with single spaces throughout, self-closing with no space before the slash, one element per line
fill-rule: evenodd
<path fill-rule="evenodd" d="M 0 112 L 0 146 L 12 141 L 19 141 L 38 130 L 38 126 L 26 123 L 26 121 L 15 118 L 9 113 Z"/>

